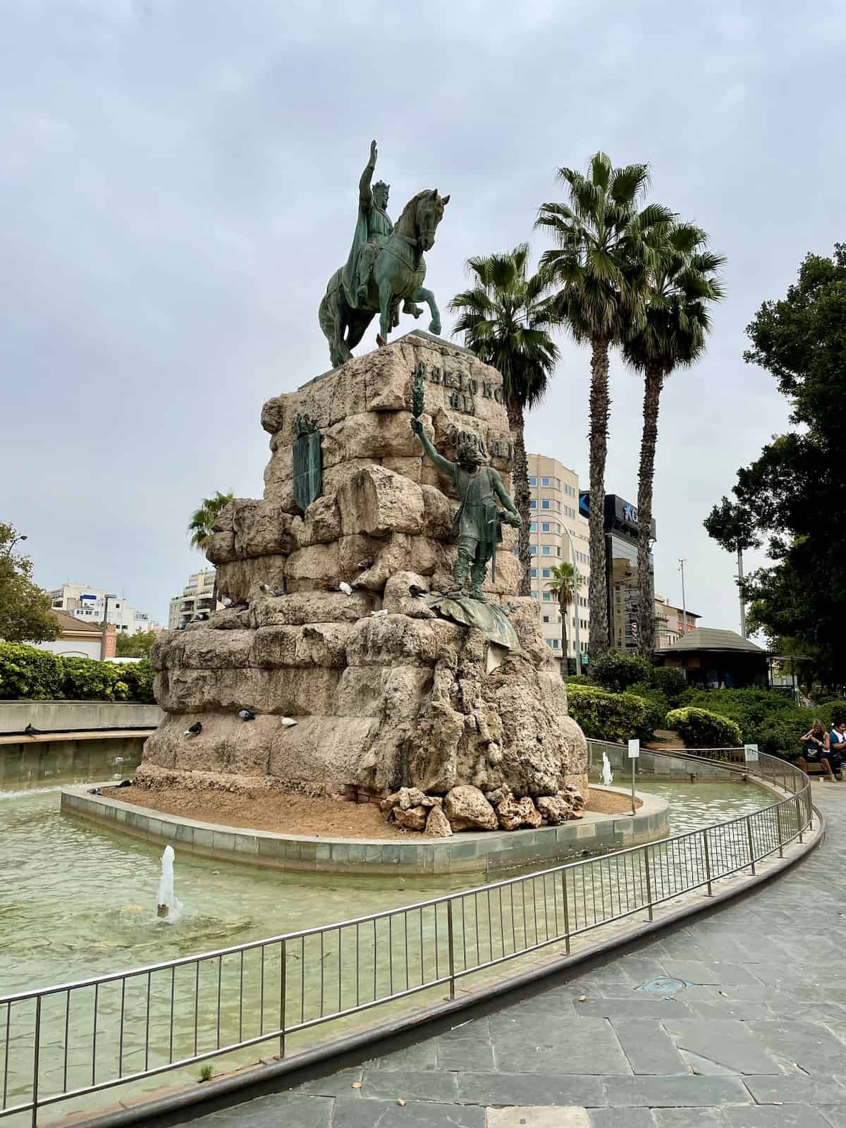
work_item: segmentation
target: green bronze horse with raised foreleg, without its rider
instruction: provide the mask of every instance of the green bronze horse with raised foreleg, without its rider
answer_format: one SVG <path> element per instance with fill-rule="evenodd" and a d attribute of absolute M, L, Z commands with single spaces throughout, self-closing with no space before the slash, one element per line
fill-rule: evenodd
<path fill-rule="evenodd" d="M 440 196 L 437 188 L 418 192 L 408 201 L 393 232 L 379 247 L 370 275 L 368 296 L 360 308 L 349 301 L 344 289 L 344 267 L 338 267 L 329 279 L 320 302 L 320 328 L 329 342 L 329 358 L 335 368 L 352 356 L 351 350 L 364 336 L 364 331 L 379 314 L 379 344 L 399 324 L 399 302 L 403 312 L 420 317 L 423 312 L 415 301 L 425 301 L 432 315 L 430 333 L 441 332 L 441 315 L 431 290 L 423 288 L 426 276 L 424 250 L 434 246 L 434 232 L 443 218 L 449 196 Z"/>

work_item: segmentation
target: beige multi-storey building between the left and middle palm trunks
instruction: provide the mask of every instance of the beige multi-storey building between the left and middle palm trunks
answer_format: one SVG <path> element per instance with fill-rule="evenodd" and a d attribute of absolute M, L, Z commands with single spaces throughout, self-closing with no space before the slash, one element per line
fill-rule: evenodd
<path fill-rule="evenodd" d="M 544 638 L 558 660 L 563 656 L 561 610 L 557 597 L 549 591 L 552 569 L 556 564 L 573 563 L 582 578 L 578 597 L 569 608 L 566 624 L 567 656 L 572 660 L 572 669 L 578 654 L 576 635 L 581 655 L 588 653 L 589 624 L 588 521 L 579 512 L 579 475 L 557 458 L 546 455 L 528 455 L 527 458 L 531 492 L 531 594 L 541 605 Z"/>

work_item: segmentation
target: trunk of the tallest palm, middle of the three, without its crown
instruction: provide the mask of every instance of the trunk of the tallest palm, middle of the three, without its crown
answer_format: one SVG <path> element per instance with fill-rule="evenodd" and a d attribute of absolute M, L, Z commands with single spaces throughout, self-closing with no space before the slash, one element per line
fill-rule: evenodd
<path fill-rule="evenodd" d="M 608 456 L 608 342 L 597 337 L 590 358 L 590 635 L 594 661 L 608 650 L 608 587 L 605 552 L 605 464 Z"/>

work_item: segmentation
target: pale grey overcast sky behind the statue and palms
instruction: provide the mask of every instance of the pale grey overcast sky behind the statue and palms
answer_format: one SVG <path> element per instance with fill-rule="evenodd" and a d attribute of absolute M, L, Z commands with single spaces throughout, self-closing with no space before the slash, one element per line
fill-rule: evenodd
<path fill-rule="evenodd" d="M 654 199 L 729 259 L 707 356 L 662 399 L 655 583 L 679 600 L 686 557 L 689 607 L 737 629 L 702 520 L 787 418 L 744 326 L 846 236 L 845 39 L 839 0 L 6 0 L 0 520 L 38 582 L 167 623 L 203 565 L 192 509 L 261 496 L 262 404 L 328 367 L 317 306 L 371 138 L 394 218 L 451 194 L 426 256 L 441 308 L 469 255 L 539 254 L 556 168 L 601 148 L 649 161 Z M 583 486 L 588 363 L 563 342 L 527 426 Z M 611 395 L 606 486 L 635 501 L 641 385 L 616 359 Z"/>

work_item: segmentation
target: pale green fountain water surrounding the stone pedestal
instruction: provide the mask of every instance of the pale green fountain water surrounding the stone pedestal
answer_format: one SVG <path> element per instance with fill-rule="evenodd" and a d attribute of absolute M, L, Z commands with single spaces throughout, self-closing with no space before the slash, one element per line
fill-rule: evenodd
<path fill-rule="evenodd" d="M 0 754 L 1 755 L 1 754 Z M 161 849 L 109 831 L 90 827 L 64 816 L 59 805 L 59 787 L 65 783 L 106 781 L 115 775 L 131 775 L 133 758 L 115 763 L 114 749 L 96 751 L 89 746 L 61 763 L 49 755 L 0 765 L 0 995 L 47 984 L 79 980 L 89 976 L 150 964 L 180 955 L 228 948 L 252 940 L 291 933 L 315 925 L 349 919 L 381 909 L 395 908 L 437 896 L 431 884 L 416 887 L 384 879 L 291 878 L 284 873 L 252 870 L 245 865 L 180 855 L 176 852 L 176 897 L 180 913 L 170 922 L 156 917 Z M 615 781 L 617 783 L 618 781 Z M 773 797 L 763 788 L 741 783 L 637 782 L 641 791 L 667 799 L 672 831 L 723 821 L 768 805 Z M 620 882 L 618 865 L 601 864 L 587 883 L 569 892 L 571 924 L 580 925 L 600 910 L 615 884 Z M 607 873 L 603 871 L 607 869 Z M 642 874 L 633 869 L 623 873 L 623 884 L 635 890 Z M 547 914 L 558 910 L 563 889 L 547 885 L 520 887 L 510 900 L 503 895 L 478 895 L 460 904 L 456 920 L 457 967 L 475 966 L 484 959 L 517 951 L 540 938 L 544 931 L 557 929 Z M 479 900 L 479 897 L 482 900 Z M 529 899 L 530 898 L 530 899 Z M 486 904 L 485 904 L 486 901 Z M 581 906 L 581 908 L 580 908 Z M 194 968 L 169 970 L 130 980 L 125 998 L 117 984 L 104 986 L 99 997 L 74 994 L 73 1010 L 67 1016 L 65 996 L 45 1001 L 42 1021 L 50 1031 L 49 1051 L 44 1051 L 42 1092 L 63 1086 L 63 1028 L 69 1023 L 68 1079 L 70 1084 L 90 1083 L 91 1030 L 99 1029 L 96 1058 L 98 1077 L 115 1075 L 120 1060 L 124 1072 L 144 1067 L 144 1025 L 149 1026 L 156 1052 L 174 1058 L 192 1052 L 199 1037 L 200 1051 L 212 1050 L 228 1041 L 253 1037 L 279 1024 L 280 993 L 285 998 L 288 1022 L 332 1013 L 377 998 L 393 989 L 429 982 L 443 973 L 446 949 L 446 906 L 428 909 L 398 920 L 381 920 L 370 932 L 359 935 L 354 926 L 285 950 L 285 980 L 281 979 L 280 945 L 235 954 L 218 963 L 203 966 L 194 979 Z M 540 914 L 540 917 L 539 917 Z M 491 922 L 494 922 L 492 927 Z M 499 922 L 499 925 L 497 925 Z M 503 924 L 504 922 L 504 924 Z M 582 922 L 584 923 L 584 922 Z M 479 932 L 481 926 L 481 932 Z M 487 927 L 487 938 L 485 937 Z M 389 929 L 394 931 L 390 932 Z M 532 933 L 534 929 L 534 933 Z M 552 933 L 553 935 L 555 933 Z M 532 940 L 532 935 L 535 940 Z M 510 938 L 511 937 L 511 938 Z M 487 944 L 487 951 L 485 945 Z M 299 945 L 299 946 L 298 946 Z M 468 960 L 469 950 L 469 962 Z M 425 954 L 424 954 L 425 952 Z M 440 954 L 439 954 L 440 953 Z M 440 959 L 440 968 L 432 966 Z M 411 960 L 411 978 L 408 961 Z M 86 988 L 86 992 L 89 989 Z M 176 999 L 173 1014 L 169 998 Z M 440 989 L 442 994 L 442 988 Z M 200 1006 L 196 1007 L 197 996 Z M 215 1030 L 215 1001 L 220 1001 L 222 1031 Z M 240 1001 L 244 1001 L 241 1004 Z M 194 1011 L 200 1012 L 197 1036 Z M 299 1011 L 298 1011 L 299 1008 Z M 29 1004 L 15 1010 L 10 1037 L 9 1103 L 25 1099 L 30 1085 L 32 1014 Z M 120 1016 L 125 1011 L 126 1037 L 118 1049 Z M 381 1013 L 381 1012 L 380 1012 Z M 96 1023 L 94 1016 L 96 1014 Z M 5 1025 L 0 1008 L 0 1025 Z M 360 1016 L 340 1020 L 355 1025 Z M 0 1029 L 0 1047 L 3 1043 Z M 311 1037 L 311 1036 L 309 1036 Z M 219 1040 L 215 1042 L 215 1038 Z M 275 1042 L 230 1055 L 226 1066 L 255 1061 L 273 1052 Z M 297 1048 L 297 1039 L 289 1039 Z M 153 1061 L 150 1063 L 151 1065 Z M 1 1065 L 1 1063 L 0 1063 Z M 151 1090 L 174 1079 L 196 1079 L 199 1067 L 179 1070 L 164 1078 L 149 1078 L 138 1086 Z M 95 1109 L 114 1099 L 114 1092 L 80 1099 L 62 1105 L 62 1111 Z M 0 1108 L 2 1102 L 0 1102 Z M 7 1121 L 3 1121 L 6 1123 Z M 15 1125 L 18 1117 L 10 1121 Z M 23 1122 L 23 1121 L 21 1121 Z"/>

